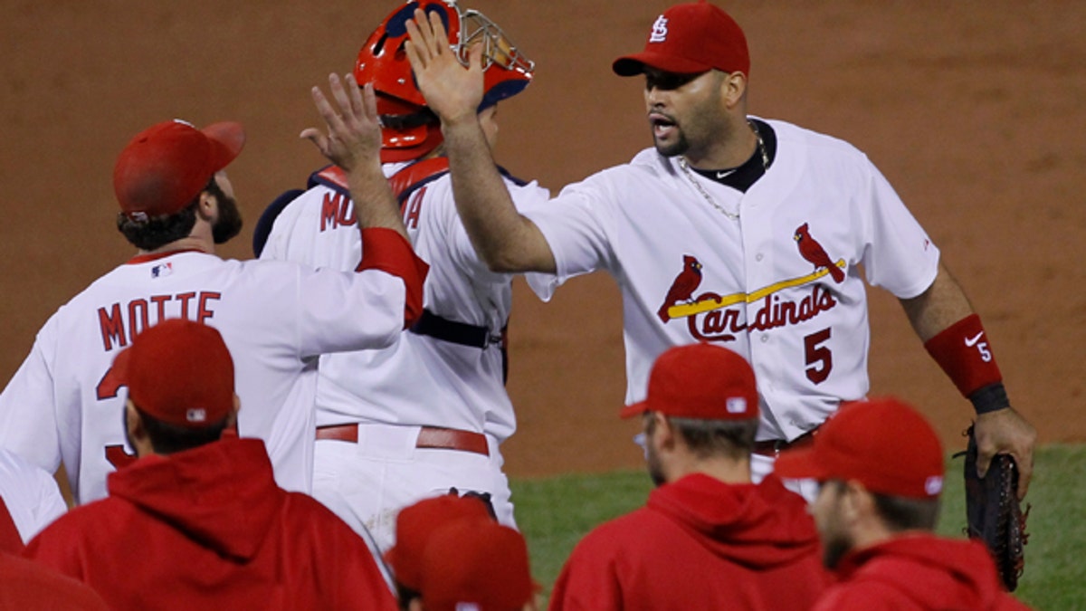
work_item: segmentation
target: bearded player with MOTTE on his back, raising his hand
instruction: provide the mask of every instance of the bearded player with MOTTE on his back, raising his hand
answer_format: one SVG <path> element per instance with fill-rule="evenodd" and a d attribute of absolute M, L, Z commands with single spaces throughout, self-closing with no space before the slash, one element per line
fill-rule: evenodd
<path fill-rule="evenodd" d="M 215 246 L 241 219 L 225 167 L 238 155 L 238 123 L 197 129 L 167 121 L 121 152 L 113 184 L 117 227 L 139 252 L 60 308 L 0 394 L 0 447 L 55 472 L 63 461 L 79 502 L 105 496 L 106 475 L 132 460 L 117 417 L 124 385 L 113 357 L 143 329 L 188 319 L 223 332 L 237 356 L 239 429 L 267 444 L 276 479 L 308 491 L 313 472 L 316 360 L 326 352 L 387 347 L 421 312 L 426 264 L 403 224 L 379 165 L 372 92 L 332 78 L 338 110 L 314 90 L 329 134 L 304 133 L 349 169 L 376 173 L 376 189 L 355 212 L 366 235 L 356 273 L 293 263 L 225 261 Z"/>

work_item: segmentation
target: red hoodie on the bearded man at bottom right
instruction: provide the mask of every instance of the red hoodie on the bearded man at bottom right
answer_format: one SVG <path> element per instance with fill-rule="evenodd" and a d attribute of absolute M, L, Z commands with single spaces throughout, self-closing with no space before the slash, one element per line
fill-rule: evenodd
<path fill-rule="evenodd" d="M 819 611 L 1028 610 L 1002 590 L 984 545 L 910 534 L 856 550 L 837 566 L 841 583 Z"/>

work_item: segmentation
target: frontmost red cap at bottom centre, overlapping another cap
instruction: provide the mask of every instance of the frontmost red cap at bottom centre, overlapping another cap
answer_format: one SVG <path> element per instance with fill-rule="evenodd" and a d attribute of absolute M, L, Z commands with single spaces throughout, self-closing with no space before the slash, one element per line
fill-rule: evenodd
<path fill-rule="evenodd" d="M 525 537 L 492 520 L 435 531 L 422 551 L 421 579 L 428 611 L 520 611 L 539 589 Z"/>

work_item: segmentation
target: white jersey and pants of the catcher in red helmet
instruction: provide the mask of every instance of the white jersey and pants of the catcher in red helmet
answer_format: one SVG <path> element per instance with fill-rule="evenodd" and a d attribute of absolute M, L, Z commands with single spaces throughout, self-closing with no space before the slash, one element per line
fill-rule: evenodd
<path fill-rule="evenodd" d="M 404 167 L 386 164 L 384 171 L 392 176 Z M 450 487 L 490 492 L 498 518 L 513 523 L 497 447 L 516 429 L 501 345 L 513 276 L 492 273 L 479 260 L 456 213 L 449 174 L 421 176 L 427 177 L 409 180 L 416 186 L 401 200 L 415 251 L 430 264 L 424 306 L 428 314 L 485 329 L 492 341 L 465 346 L 405 332 L 384 350 L 321 357 L 317 424 L 362 423 L 365 429 L 358 444 L 318 441 L 314 496 L 348 523 L 362 522 L 382 548 L 392 541 L 400 508 Z M 520 205 L 550 197 L 535 183 L 506 184 Z M 276 219 L 261 258 L 353 269 L 361 239 L 354 222 L 352 202 L 341 187 L 328 180 L 315 184 Z M 490 458 L 416 452 L 422 425 L 483 433 Z"/>

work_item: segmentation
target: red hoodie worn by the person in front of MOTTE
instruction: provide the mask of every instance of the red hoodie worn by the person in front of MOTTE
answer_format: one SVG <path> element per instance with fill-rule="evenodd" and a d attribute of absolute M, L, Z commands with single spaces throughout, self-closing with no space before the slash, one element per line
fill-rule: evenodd
<path fill-rule="evenodd" d="M 224 438 L 110 475 L 26 556 L 114 609 L 396 609 L 365 541 L 275 484 L 260 439 Z"/>

